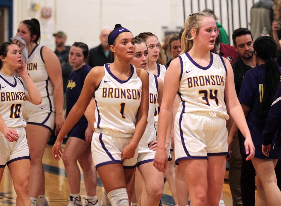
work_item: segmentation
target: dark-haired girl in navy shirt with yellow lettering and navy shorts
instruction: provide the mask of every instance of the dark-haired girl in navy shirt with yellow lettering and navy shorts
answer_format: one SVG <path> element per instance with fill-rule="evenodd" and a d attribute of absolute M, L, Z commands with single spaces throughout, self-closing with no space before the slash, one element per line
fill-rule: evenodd
<path fill-rule="evenodd" d="M 86 64 L 89 49 L 87 44 L 74 42 L 70 47 L 68 61 L 73 66 L 73 71 L 69 74 L 66 88 L 66 117 L 77 102 L 83 88 L 85 78 L 91 71 L 91 67 Z M 81 204 L 80 197 L 80 169 L 77 160 L 83 170 L 83 177 L 87 192 L 83 206 L 98 206 L 96 196 L 97 173 L 92 162 L 91 143 L 93 131 L 83 115 L 67 134 L 68 140 L 65 145 L 62 160 L 67 174 L 70 187 L 70 200 L 68 206 Z M 59 141 L 58 139 L 56 141 Z M 79 146 L 78 146 L 79 145 Z"/>

